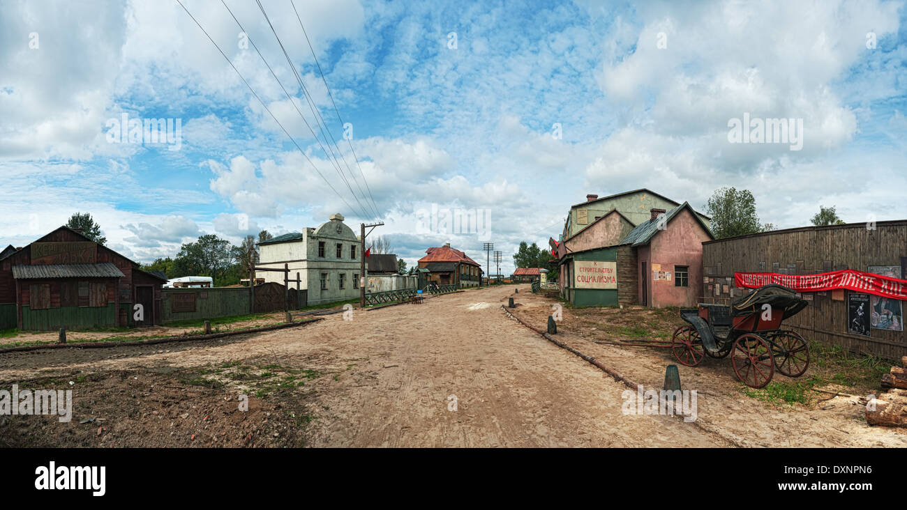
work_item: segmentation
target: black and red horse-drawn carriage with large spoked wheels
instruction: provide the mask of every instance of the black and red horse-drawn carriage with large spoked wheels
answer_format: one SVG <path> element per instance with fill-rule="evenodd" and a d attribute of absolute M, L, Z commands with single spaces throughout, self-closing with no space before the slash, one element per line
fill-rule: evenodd
<path fill-rule="evenodd" d="M 736 376 L 752 388 L 768 384 L 775 370 L 800 377 L 809 366 L 809 347 L 799 334 L 782 330 L 781 322 L 805 306 L 793 290 L 770 284 L 730 306 L 699 303 L 698 308 L 682 308 L 680 317 L 689 325 L 674 332 L 671 350 L 688 367 L 706 356 L 730 354 Z"/>

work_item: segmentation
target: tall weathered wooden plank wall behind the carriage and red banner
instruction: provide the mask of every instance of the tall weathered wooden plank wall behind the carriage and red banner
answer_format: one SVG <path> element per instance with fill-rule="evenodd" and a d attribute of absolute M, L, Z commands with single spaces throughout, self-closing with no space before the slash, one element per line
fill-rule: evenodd
<path fill-rule="evenodd" d="M 734 289 L 735 272 L 817 274 L 901 265 L 901 257 L 907 255 L 907 221 L 878 222 L 874 230 L 864 224 L 781 230 L 709 241 L 702 248 L 702 302 L 727 304 L 746 292 Z M 718 284 L 722 288 L 716 295 Z M 812 299 L 809 306 L 785 324 L 807 338 L 850 351 L 893 360 L 907 355 L 907 332 L 873 329 L 868 337 L 847 332 L 848 292 L 844 292 L 844 301 L 835 301 L 830 291 L 824 295 L 805 293 L 806 299 Z"/>

